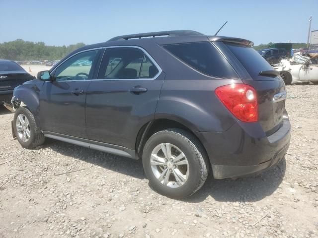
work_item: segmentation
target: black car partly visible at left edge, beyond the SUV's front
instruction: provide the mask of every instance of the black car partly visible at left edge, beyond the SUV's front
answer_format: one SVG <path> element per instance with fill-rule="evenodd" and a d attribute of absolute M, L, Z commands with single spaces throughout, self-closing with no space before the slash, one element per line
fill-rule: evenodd
<path fill-rule="evenodd" d="M 0 105 L 10 103 L 13 89 L 33 78 L 16 62 L 0 60 Z"/>

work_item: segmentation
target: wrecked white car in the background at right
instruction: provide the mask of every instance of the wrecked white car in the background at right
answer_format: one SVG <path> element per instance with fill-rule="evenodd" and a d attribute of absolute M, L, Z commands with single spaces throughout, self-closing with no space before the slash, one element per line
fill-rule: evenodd
<path fill-rule="evenodd" d="M 295 54 L 290 60 L 281 60 L 274 69 L 280 72 L 285 84 L 318 81 L 318 56 L 313 58 Z"/>

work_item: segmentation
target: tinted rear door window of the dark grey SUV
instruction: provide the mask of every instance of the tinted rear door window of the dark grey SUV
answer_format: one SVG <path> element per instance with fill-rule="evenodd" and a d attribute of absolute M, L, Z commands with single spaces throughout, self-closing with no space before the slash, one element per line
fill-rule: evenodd
<path fill-rule="evenodd" d="M 99 79 L 153 78 L 158 68 L 137 48 L 106 49 L 98 74 Z"/>

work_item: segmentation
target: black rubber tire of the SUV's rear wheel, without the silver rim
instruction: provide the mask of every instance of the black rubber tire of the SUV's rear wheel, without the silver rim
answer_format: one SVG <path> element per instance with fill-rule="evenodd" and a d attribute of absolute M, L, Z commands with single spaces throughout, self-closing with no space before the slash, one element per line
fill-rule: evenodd
<path fill-rule="evenodd" d="M 179 187 L 163 185 L 152 171 L 151 154 L 154 148 L 161 143 L 177 146 L 188 161 L 188 178 Z M 174 199 L 185 198 L 200 189 L 207 179 L 209 170 L 206 152 L 198 139 L 187 131 L 176 128 L 159 131 L 148 139 L 143 150 L 143 166 L 151 186 L 160 194 Z"/>

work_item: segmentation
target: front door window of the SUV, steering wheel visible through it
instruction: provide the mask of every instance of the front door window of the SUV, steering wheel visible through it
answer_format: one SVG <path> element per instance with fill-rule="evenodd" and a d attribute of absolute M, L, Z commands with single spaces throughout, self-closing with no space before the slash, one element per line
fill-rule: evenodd
<path fill-rule="evenodd" d="M 79 53 L 66 60 L 55 71 L 56 81 L 91 79 L 92 64 L 96 60 L 98 50 Z"/>

